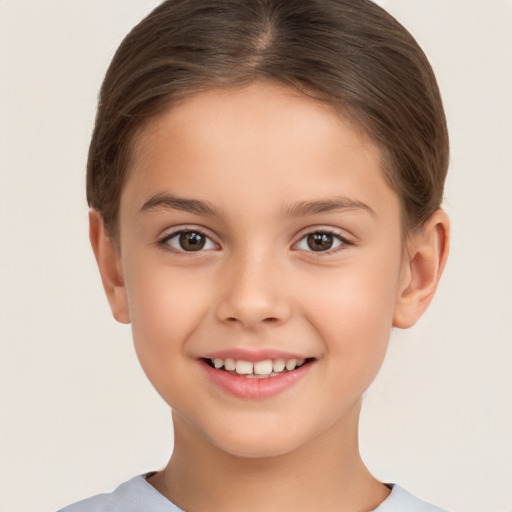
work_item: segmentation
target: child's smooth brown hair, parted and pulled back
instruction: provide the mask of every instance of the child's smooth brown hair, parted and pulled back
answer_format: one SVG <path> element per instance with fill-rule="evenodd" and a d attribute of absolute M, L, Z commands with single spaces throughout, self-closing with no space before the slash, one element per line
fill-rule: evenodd
<path fill-rule="evenodd" d="M 187 95 L 256 80 L 339 107 L 380 147 L 407 230 L 440 207 L 448 132 L 421 48 L 369 0 L 167 0 L 126 36 L 100 92 L 87 200 L 116 236 L 138 131 Z"/>

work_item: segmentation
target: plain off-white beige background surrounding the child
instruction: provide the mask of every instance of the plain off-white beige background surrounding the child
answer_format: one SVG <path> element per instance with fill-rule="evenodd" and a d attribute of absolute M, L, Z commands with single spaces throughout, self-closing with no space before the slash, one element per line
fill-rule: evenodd
<path fill-rule="evenodd" d="M 170 413 L 116 324 L 87 239 L 96 93 L 155 0 L 0 0 L 0 511 L 52 511 L 163 466 Z M 512 2 L 382 0 L 438 75 L 451 259 L 368 391 L 377 477 L 512 511 Z M 307 411 L 305 411 L 307 414 Z M 227 489 L 228 492 L 228 489 Z"/>

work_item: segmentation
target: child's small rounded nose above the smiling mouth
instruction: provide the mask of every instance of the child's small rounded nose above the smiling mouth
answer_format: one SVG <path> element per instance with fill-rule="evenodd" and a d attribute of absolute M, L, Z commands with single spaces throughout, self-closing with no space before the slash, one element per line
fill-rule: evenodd
<path fill-rule="evenodd" d="M 246 329 L 281 324 L 292 313 L 282 269 L 272 255 L 245 255 L 226 262 L 218 297 L 217 318 Z"/>

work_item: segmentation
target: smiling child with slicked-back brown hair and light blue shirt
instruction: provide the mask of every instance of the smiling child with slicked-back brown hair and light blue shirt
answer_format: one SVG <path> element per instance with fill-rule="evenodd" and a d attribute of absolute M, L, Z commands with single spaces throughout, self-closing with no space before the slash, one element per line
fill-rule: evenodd
<path fill-rule="evenodd" d="M 174 452 L 64 510 L 439 512 L 371 475 L 357 428 L 444 268 L 447 166 L 433 72 L 372 2 L 157 7 L 107 72 L 87 195 Z"/>

